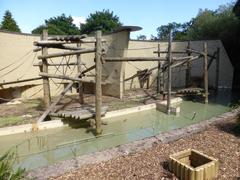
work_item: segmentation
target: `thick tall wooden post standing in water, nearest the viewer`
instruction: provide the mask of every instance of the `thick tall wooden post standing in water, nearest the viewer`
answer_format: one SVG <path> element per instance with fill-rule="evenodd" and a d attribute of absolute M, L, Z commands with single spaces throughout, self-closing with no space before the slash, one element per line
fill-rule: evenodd
<path fill-rule="evenodd" d="M 95 91 L 95 119 L 96 119 L 96 134 L 99 135 L 102 133 L 101 128 L 101 107 L 102 107 L 102 62 L 101 62 L 101 53 L 102 53 L 102 43 L 101 43 L 102 32 L 98 30 L 96 32 L 96 91 Z"/>

